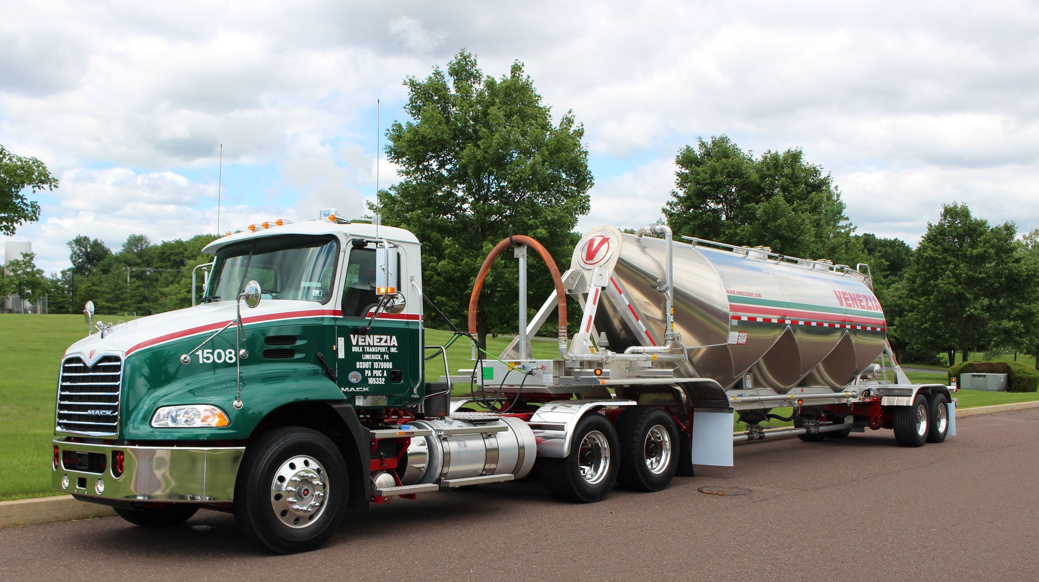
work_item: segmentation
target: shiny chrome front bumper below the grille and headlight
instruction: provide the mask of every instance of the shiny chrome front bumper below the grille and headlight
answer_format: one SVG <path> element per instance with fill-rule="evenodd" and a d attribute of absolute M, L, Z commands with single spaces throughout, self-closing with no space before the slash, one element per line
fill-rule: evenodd
<path fill-rule="evenodd" d="M 51 487 L 99 502 L 232 501 L 244 447 L 135 447 L 56 439 Z M 115 456 L 123 452 L 123 473 Z M 104 459 L 104 460 L 102 460 Z M 116 476 L 118 474 L 118 476 Z"/>

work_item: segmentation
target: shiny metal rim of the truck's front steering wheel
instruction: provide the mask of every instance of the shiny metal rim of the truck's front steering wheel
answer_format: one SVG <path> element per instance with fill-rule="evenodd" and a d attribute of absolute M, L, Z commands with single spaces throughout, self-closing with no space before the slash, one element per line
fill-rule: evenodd
<path fill-rule="evenodd" d="M 270 482 L 270 506 L 278 521 L 304 528 L 324 512 L 325 470 L 312 456 L 298 455 L 282 464 Z"/>

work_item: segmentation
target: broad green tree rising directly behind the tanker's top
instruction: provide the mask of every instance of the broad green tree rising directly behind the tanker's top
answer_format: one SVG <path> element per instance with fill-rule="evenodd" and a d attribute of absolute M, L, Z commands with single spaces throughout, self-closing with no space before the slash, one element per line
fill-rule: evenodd
<path fill-rule="evenodd" d="M 663 212 L 677 235 L 849 265 L 867 257 L 831 176 L 801 150 L 755 159 L 721 135 L 686 146 L 675 163 L 676 188 Z"/>

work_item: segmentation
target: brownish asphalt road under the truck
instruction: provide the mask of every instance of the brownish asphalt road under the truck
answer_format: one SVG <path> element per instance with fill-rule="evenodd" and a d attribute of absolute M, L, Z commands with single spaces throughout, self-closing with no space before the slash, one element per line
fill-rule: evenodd
<path fill-rule="evenodd" d="M 1039 409 L 737 447 L 667 491 L 561 503 L 537 482 L 395 500 L 323 549 L 260 551 L 227 514 L 145 530 L 103 518 L 0 530 L 2 580 L 1036 580 Z M 735 485 L 742 497 L 697 487 Z"/>

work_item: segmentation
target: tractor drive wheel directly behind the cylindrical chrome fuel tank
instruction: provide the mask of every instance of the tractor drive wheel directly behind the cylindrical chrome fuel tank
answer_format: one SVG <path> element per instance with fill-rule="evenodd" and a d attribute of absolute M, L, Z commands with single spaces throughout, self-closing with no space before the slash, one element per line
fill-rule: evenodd
<path fill-rule="evenodd" d="M 610 421 L 588 414 L 578 422 L 564 458 L 540 458 L 541 481 L 549 493 L 564 501 L 594 503 L 602 500 L 617 480 L 620 445 Z"/>

